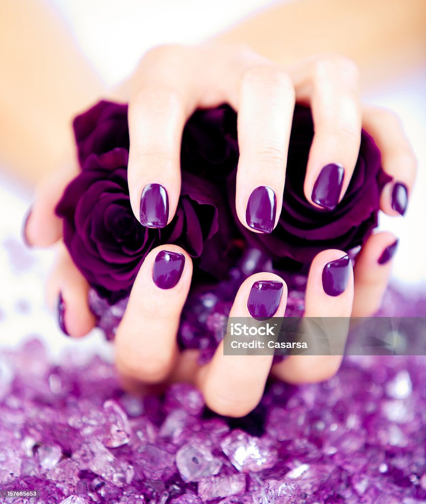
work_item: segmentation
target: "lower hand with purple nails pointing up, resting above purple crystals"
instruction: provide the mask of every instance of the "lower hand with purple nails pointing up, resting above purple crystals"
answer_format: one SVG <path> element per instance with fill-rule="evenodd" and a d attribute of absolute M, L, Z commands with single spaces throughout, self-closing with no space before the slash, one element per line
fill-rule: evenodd
<path fill-rule="evenodd" d="M 370 236 L 353 271 L 341 250 L 318 254 L 309 272 L 305 317 L 372 315 L 388 284 L 394 243 L 389 232 Z M 269 373 L 298 384 L 327 380 L 337 372 L 340 355 L 295 355 L 272 365 L 270 355 L 224 355 L 223 343 L 208 364 L 199 366 L 198 350 L 180 353 L 176 338 L 191 276 L 191 258 L 176 245 L 157 247 L 145 259 L 114 340 L 125 389 L 143 392 L 171 382 L 189 382 L 202 391 L 212 410 L 243 416 L 260 401 Z M 258 282 L 271 289 L 258 289 Z M 76 337 L 94 326 L 87 307 L 88 288 L 61 244 L 47 292 L 51 304 L 61 292 L 59 320 L 62 329 Z M 286 303 L 286 283 L 272 273 L 257 273 L 241 285 L 230 317 L 283 317 Z"/>

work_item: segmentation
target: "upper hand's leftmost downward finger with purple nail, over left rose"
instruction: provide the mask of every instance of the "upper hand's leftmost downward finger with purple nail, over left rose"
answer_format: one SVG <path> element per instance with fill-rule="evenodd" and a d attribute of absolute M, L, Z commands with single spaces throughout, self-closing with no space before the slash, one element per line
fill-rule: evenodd
<path fill-rule="evenodd" d="M 184 46 L 156 47 L 141 60 L 131 91 L 130 203 L 147 227 L 165 227 L 176 211 L 182 132 L 199 93 L 191 63 L 191 52 Z"/>

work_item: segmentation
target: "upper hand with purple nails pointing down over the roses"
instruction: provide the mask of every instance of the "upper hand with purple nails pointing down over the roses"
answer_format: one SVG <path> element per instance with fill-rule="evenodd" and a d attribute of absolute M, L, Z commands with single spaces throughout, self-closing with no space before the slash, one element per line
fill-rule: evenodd
<path fill-rule="evenodd" d="M 141 59 L 118 94 L 129 103 L 129 193 L 133 213 L 143 225 L 164 227 L 173 219 L 184 124 L 197 107 L 223 102 L 238 112 L 236 209 L 253 232 L 271 232 L 278 221 L 295 100 L 311 106 L 315 124 L 304 184 L 307 200 L 330 210 L 342 199 L 364 124 L 394 179 L 383 191 L 381 209 L 389 215 L 406 211 L 415 175 L 411 147 L 393 114 L 362 108 L 357 67 L 342 56 L 313 57 L 285 69 L 245 47 L 159 46 Z M 54 181 L 41 190 L 46 201 L 36 201 L 32 220 L 40 213 L 44 222 L 46 214 L 49 221 L 55 219 L 51 209 L 58 188 L 75 173 L 70 169 L 62 183 Z M 44 230 L 34 229 L 37 236 L 32 236 L 33 225 L 27 232 L 30 242 L 48 244 L 60 237 L 61 227 L 56 219 Z"/>

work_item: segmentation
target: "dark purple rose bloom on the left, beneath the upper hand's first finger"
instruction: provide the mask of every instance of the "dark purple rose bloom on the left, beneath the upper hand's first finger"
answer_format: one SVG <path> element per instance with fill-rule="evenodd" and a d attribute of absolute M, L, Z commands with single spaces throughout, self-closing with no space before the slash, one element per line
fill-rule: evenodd
<path fill-rule="evenodd" d="M 74 128 L 81 172 L 66 187 L 56 213 L 63 218 L 71 257 L 101 296 L 114 303 L 128 295 L 145 257 L 160 244 L 180 245 L 198 269 L 216 278 L 226 275 L 236 231 L 217 185 L 183 170 L 172 222 L 164 229 L 146 228 L 130 207 L 127 106 L 100 102 L 78 116 Z"/>

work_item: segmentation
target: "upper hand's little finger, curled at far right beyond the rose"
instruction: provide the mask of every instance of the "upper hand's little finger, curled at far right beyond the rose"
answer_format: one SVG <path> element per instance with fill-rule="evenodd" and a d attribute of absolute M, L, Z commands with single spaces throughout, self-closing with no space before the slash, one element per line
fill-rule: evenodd
<path fill-rule="evenodd" d="M 380 208 L 388 215 L 405 215 L 417 171 L 417 160 L 400 119 L 390 110 L 365 107 L 364 127 L 382 154 L 382 166 L 393 180 L 385 185 Z"/>

